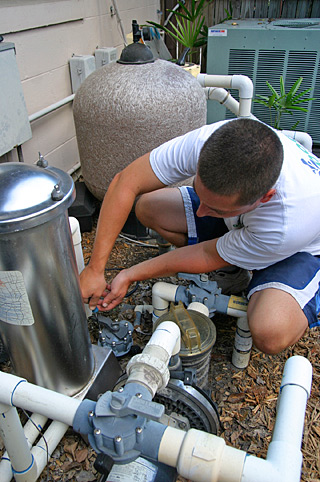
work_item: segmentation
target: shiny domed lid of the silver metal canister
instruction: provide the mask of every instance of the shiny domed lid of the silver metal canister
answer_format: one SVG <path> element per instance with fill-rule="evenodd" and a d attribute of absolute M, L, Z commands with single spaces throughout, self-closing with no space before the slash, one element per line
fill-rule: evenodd
<path fill-rule="evenodd" d="M 0 233 L 43 224 L 64 212 L 74 198 L 73 180 L 60 169 L 0 164 Z"/>

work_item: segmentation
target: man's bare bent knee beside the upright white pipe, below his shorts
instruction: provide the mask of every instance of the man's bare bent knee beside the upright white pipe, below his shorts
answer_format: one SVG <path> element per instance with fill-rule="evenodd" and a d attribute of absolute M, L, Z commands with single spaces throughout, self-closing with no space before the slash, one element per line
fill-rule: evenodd
<path fill-rule="evenodd" d="M 254 345 L 271 355 L 296 343 L 308 328 L 307 317 L 292 295 L 273 288 L 251 296 L 248 322 Z"/>

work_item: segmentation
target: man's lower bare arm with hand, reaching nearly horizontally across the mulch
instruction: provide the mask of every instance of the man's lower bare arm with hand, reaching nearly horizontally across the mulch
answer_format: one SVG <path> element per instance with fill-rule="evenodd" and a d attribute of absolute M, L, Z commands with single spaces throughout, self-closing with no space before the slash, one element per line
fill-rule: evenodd
<path fill-rule="evenodd" d="M 217 239 L 175 249 L 156 258 L 143 261 L 131 268 L 122 270 L 107 285 L 101 311 L 110 310 L 123 300 L 131 283 L 160 276 L 170 276 L 179 272 L 206 273 L 230 266 L 216 249 Z"/>

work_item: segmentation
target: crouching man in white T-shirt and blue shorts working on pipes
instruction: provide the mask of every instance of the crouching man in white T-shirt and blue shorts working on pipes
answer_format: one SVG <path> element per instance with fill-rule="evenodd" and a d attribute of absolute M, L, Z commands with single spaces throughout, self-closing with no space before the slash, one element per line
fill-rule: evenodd
<path fill-rule="evenodd" d="M 251 119 L 204 126 L 163 144 L 112 181 L 81 275 L 84 302 L 105 311 L 134 281 L 238 266 L 253 272 L 253 342 L 278 353 L 318 324 L 319 174 L 317 157 Z M 163 189 L 192 175 L 194 190 Z M 106 284 L 108 256 L 138 195 L 141 222 L 181 248 L 125 269 Z"/>

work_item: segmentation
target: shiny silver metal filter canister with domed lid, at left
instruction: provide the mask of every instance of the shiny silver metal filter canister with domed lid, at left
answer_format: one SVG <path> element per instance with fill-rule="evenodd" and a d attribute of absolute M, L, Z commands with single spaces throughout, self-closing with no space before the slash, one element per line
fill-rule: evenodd
<path fill-rule="evenodd" d="M 60 169 L 0 164 L 0 334 L 14 373 L 66 395 L 89 381 L 94 358 Z"/>

